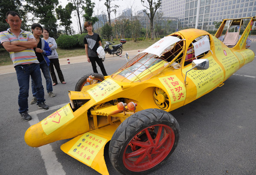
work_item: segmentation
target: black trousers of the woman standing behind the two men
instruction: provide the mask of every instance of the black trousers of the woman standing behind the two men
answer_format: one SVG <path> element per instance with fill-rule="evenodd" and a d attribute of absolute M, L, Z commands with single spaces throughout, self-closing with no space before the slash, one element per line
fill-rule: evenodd
<path fill-rule="evenodd" d="M 49 68 L 50 68 L 50 73 L 51 73 L 51 76 L 52 76 L 52 82 L 53 83 L 58 83 L 57 82 L 57 77 L 55 75 L 55 72 L 54 72 L 54 68 L 53 68 L 53 65 L 58 73 L 58 77 L 60 79 L 61 82 L 64 82 L 64 76 L 62 74 L 62 71 L 61 71 L 61 68 L 60 68 L 60 63 L 58 61 L 58 58 L 52 58 L 52 59 L 49 59 L 50 60 L 50 65 L 49 65 Z"/>

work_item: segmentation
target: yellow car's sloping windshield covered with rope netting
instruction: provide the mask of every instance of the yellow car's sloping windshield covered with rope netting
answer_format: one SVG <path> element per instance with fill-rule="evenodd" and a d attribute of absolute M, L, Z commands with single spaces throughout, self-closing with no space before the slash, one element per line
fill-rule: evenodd
<path fill-rule="evenodd" d="M 116 73 L 113 73 L 111 77 L 123 82 L 138 82 L 149 79 L 157 73 L 160 73 L 166 66 L 170 67 L 172 65 L 172 67 L 176 66 L 176 68 L 178 68 L 180 60 L 184 55 L 183 40 L 177 38 L 177 40 L 169 42 L 171 45 L 160 41 L 135 56 L 134 59 L 129 61 Z M 164 45 L 162 46 L 161 43 Z M 161 46 L 158 47 L 158 50 L 152 51 L 152 48 L 156 44 Z M 146 51 L 150 51 L 151 53 Z"/>

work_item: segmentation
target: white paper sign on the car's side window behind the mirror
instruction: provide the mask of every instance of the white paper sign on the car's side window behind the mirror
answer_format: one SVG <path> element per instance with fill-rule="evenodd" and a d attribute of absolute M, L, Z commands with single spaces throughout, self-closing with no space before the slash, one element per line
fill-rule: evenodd
<path fill-rule="evenodd" d="M 207 36 L 192 44 L 195 50 L 195 57 L 210 50 L 210 42 Z"/>

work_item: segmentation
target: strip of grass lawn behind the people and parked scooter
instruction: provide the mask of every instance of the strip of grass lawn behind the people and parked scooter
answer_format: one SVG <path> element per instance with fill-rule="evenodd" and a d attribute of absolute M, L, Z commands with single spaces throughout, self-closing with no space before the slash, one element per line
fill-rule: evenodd
<path fill-rule="evenodd" d="M 160 39 L 160 38 L 159 38 Z M 157 40 L 156 40 L 157 41 Z M 148 48 L 150 45 L 154 44 L 154 40 L 143 40 L 143 41 L 128 41 L 123 45 L 123 52 L 131 50 L 139 50 Z M 113 45 L 119 44 L 120 42 L 115 42 Z M 104 47 L 105 42 L 102 46 Z M 73 56 L 85 55 L 84 48 L 73 48 L 73 49 L 61 49 L 57 48 L 59 58 L 68 58 Z M 0 48 L 0 66 L 2 65 L 12 65 L 12 60 L 10 59 L 9 53 L 4 49 Z"/>

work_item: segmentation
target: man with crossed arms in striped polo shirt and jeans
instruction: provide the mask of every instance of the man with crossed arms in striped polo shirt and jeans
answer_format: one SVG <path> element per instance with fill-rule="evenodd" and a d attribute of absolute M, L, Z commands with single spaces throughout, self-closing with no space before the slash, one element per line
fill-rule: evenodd
<path fill-rule="evenodd" d="M 17 80 L 20 87 L 18 104 L 20 116 L 29 121 L 32 117 L 28 114 L 29 79 L 32 77 L 37 90 L 36 98 L 39 108 L 47 110 L 44 101 L 44 87 L 42 85 L 41 71 L 38 59 L 33 48 L 37 46 L 37 41 L 29 31 L 20 28 L 21 20 L 15 11 L 6 13 L 6 22 L 10 25 L 7 31 L 0 32 L 0 42 L 9 52 L 12 59 Z"/>

